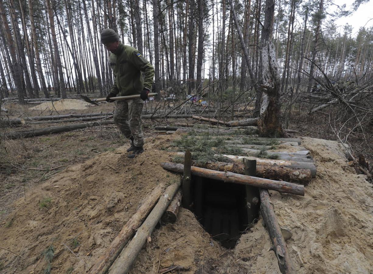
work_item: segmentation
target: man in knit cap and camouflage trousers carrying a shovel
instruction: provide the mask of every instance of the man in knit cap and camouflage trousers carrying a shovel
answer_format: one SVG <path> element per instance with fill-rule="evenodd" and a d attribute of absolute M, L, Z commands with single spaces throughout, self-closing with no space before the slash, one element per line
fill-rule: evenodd
<path fill-rule="evenodd" d="M 120 43 L 113 29 L 101 32 L 101 43 L 111 52 L 110 66 L 113 69 L 114 84 L 106 97 L 107 102 L 114 102 L 110 97 L 140 94 L 140 98 L 117 100 L 114 123 L 122 134 L 129 138 L 131 146 L 128 158 L 144 152 L 144 138 L 141 129 L 142 100 L 148 98 L 154 77 L 154 68 L 137 49 Z M 142 73 L 144 72 L 144 78 Z"/>

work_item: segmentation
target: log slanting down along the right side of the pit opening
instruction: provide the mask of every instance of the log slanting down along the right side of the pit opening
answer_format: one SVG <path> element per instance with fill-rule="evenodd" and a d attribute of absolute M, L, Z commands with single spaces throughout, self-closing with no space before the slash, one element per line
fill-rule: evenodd
<path fill-rule="evenodd" d="M 280 225 L 277 221 L 275 211 L 269 199 L 269 193 L 266 189 L 260 189 L 260 214 L 263 217 L 263 223 L 267 228 L 272 242 L 270 250 L 275 252 L 281 273 L 296 273 L 292 264 L 288 247 L 283 239 Z"/>

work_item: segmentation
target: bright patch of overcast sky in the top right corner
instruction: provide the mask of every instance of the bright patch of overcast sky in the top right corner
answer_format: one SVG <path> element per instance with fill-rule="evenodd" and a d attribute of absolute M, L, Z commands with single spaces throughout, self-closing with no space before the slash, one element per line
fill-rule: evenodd
<path fill-rule="evenodd" d="M 335 0 L 333 3 L 337 5 L 343 5 L 346 4 L 347 10 L 352 10 L 351 4 L 354 2 L 354 0 Z M 343 32 L 343 26 L 348 23 L 352 26 L 352 36 L 356 36 L 357 32 L 360 27 L 363 27 L 365 25 L 365 28 L 369 28 L 373 26 L 373 1 L 370 1 L 366 4 L 361 4 L 360 7 L 355 11 L 352 15 L 347 17 L 339 18 L 335 21 L 335 24 L 337 26 L 342 26 L 342 32 Z M 369 21 L 369 19 L 372 19 Z"/>

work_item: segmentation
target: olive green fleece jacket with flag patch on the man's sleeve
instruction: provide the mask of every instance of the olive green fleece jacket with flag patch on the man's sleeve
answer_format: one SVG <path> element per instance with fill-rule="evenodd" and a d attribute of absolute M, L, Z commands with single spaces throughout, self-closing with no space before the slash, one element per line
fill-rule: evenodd
<path fill-rule="evenodd" d="M 116 96 L 140 94 L 144 87 L 151 90 L 154 68 L 134 47 L 119 43 L 115 53 L 110 54 L 110 66 L 115 77 L 110 92 Z"/>

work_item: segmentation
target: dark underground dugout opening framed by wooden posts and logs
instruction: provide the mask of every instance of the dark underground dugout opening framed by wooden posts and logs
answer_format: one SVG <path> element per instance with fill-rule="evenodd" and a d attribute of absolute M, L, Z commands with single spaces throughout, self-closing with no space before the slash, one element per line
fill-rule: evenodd
<path fill-rule="evenodd" d="M 241 234 L 258 221 L 256 187 L 192 176 L 191 210 L 214 240 L 234 248 Z"/>

